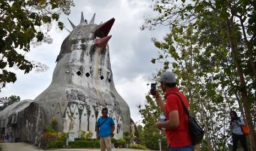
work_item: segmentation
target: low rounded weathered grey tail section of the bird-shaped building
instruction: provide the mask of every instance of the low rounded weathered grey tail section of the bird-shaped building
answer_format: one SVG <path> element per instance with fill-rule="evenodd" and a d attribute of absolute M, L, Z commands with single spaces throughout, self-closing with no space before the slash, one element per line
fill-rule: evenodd
<path fill-rule="evenodd" d="M 16 102 L 0 113 L 1 132 L 8 133 L 9 142 L 36 143 L 45 128 L 45 117 L 39 104 L 32 100 Z"/>

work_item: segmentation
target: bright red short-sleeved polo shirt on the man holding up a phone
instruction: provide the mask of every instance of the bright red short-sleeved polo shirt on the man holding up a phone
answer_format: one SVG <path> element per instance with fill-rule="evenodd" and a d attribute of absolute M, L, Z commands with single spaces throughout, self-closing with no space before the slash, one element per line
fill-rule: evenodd
<path fill-rule="evenodd" d="M 166 119 L 169 120 L 169 113 L 171 111 L 178 111 L 179 113 L 179 126 L 176 129 L 166 129 L 166 137 L 167 144 L 172 148 L 175 147 L 185 147 L 192 144 L 189 136 L 188 130 L 188 116 L 183 110 L 183 106 L 179 97 L 175 94 L 171 94 L 172 92 L 176 92 L 179 96 L 181 96 L 185 106 L 188 108 L 189 103 L 181 92 L 179 92 L 178 88 L 170 89 L 165 94 L 166 104 L 165 104 L 165 115 Z"/>

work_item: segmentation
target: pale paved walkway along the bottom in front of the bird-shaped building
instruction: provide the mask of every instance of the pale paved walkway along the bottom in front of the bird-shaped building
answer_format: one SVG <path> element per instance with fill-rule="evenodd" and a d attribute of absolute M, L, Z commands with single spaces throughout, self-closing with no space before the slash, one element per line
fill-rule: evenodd
<path fill-rule="evenodd" d="M 36 146 L 24 142 L 0 143 L 2 151 L 39 151 Z M 113 148 L 113 151 L 140 151 L 139 149 Z M 100 151 L 100 149 L 52 149 L 52 151 Z M 145 150 L 143 150 L 145 151 Z"/>

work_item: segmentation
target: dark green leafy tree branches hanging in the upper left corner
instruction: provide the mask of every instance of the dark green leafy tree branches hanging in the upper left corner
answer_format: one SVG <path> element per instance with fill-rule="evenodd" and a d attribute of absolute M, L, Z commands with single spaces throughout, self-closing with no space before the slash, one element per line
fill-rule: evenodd
<path fill-rule="evenodd" d="M 8 68 L 15 65 L 25 74 L 31 71 L 33 63 L 24 57 L 30 43 L 51 42 L 47 35 L 51 23 L 57 21 L 62 30 L 59 15 L 68 15 L 73 5 L 73 0 L 0 0 L 0 91 L 17 79 Z"/>

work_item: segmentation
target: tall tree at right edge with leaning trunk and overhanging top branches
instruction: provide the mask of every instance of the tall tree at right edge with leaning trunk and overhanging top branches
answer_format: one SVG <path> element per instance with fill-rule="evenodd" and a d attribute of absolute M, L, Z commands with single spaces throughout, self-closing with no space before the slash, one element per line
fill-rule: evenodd
<path fill-rule="evenodd" d="M 149 27 L 149 29 L 153 29 L 156 25 L 170 25 L 171 27 L 177 26 L 176 23 L 179 23 L 179 26 L 192 24 L 197 30 L 197 27 L 201 26 L 204 23 L 205 19 L 211 17 L 214 20 L 211 20 L 211 25 L 203 25 L 200 28 L 200 36 L 206 37 L 208 41 L 201 39 L 205 45 L 206 50 L 205 55 L 211 58 L 217 55 L 225 55 L 232 57 L 231 66 L 235 66 L 237 69 L 236 74 L 232 72 L 231 75 L 235 77 L 231 77 L 232 79 L 238 78 L 235 86 L 238 89 L 239 96 L 241 97 L 244 113 L 246 115 L 247 124 L 250 127 L 250 144 L 252 150 L 256 149 L 255 144 L 255 130 L 253 124 L 253 117 L 251 110 L 252 103 L 255 104 L 255 95 L 251 98 L 250 94 L 255 94 L 255 4 L 252 1 L 182 1 L 182 3 L 177 3 L 177 1 L 155 1 L 154 10 L 159 12 L 159 16 L 156 18 L 146 19 L 146 24 L 141 27 L 144 29 L 145 27 Z M 254 22 L 252 22 L 254 21 Z M 222 30 L 219 30 L 221 29 Z M 199 29 L 198 29 L 199 30 Z M 204 31 L 205 32 L 203 34 Z M 217 32 L 216 32 L 217 31 Z M 215 36 L 213 36 L 215 33 Z M 222 38 L 223 37 L 223 38 Z M 220 41 L 221 40 L 221 41 Z M 228 41 L 227 41 L 228 40 Z M 216 42 L 220 43 L 218 47 L 213 47 Z M 209 46 L 209 47 L 207 47 Z M 213 49 L 209 49 L 213 47 Z M 204 49 L 205 49 L 204 48 Z M 225 50 L 220 51 L 220 50 Z M 245 51 L 246 50 L 246 51 Z M 200 50 L 201 51 L 201 50 Z M 217 57 L 216 57 L 217 58 Z M 222 58 L 224 59 L 224 58 Z M 204 60 L 204 59 L 203 59 Z M 202 62 L 203 60 L 199 60 Z M 222 88 L 227 91 L 228 86 L 225 86 L 224 77 L 219 75 L 214 75 L 217 73 L 223 73 L 228 71 L 228 69 L 224 69 L 224 67 L 218 68 L 213 65 L 223 65 L 217 64 L 216 60 L 211 60 L 215 62 L 209 62 L 204 60 L 204 65 L 210 65 L 211 68 L 218 69 L 220 72 L 213 72 L 212 78 L 214 80 L 209 80 L 207 89 L 209 88 L 218 88 L 216 86 L 222 85 Z M 223 62 L 223 61 L 222 61 Z M 208 63 L 208 64 L 207 64 Z M 220 62 L 219 62 L 220 63 Z M 203 65 L 203 62 L 202 62 Z M 203 67 L 203 66 L 202 66 Z M 209 68 L 208 68 L 209 69 Z M 214 71 L 214 70 L 212 70 Z M 248 71 L 246 73 L 245 71 Z M 204 72 L 205 74 L 209 74 L 209 72 Z M 203 75 L 205 75 L 203 74 Z M 206 77 L 209 79 L 210 77 Z M 219 82 L 218 82 L 219 81 Z M 233 83 L 232 81 L 228 81 Z M 213 87 L 214 86 L 214 87 Z M 213 89 L 210 89 L 213 90 Z M 213 91 L 215 92 L 215 91 Z M 227 91 L 232 92 L 232 91 Z M 236 93 L 228 94 L 229 97 L 232 97 Z M 209 94 L 211 92 L 209 91 Z M 222 94 L 224 97 L 224 94 Z M 213 97 L 211 97 L 213 98 Z M 238 103 L 241 101 L 237 100 Z M 229 102 L 228 102 L 229 103 Z M 239 105 L 240 106 L 240 105 Z"/>

